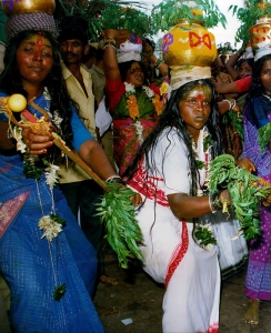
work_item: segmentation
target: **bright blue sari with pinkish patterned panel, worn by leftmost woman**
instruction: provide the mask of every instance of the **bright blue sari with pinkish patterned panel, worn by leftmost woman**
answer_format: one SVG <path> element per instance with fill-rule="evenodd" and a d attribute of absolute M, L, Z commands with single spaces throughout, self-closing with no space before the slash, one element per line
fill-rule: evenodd
<path fill-rule="evenodd" d="M 11 289 L 14 332 L 103 332 L 91 301 L 96 251 L 62 193 L 53 190 L 54 208 L 67 225 L 49 243 L 38 226 L 52 212 L 44 176 L 27 179 L 20 154 L 0 155 L 0 270 Z M 63 283 L 66 294 L 53 300 L 56 285 Z"/>

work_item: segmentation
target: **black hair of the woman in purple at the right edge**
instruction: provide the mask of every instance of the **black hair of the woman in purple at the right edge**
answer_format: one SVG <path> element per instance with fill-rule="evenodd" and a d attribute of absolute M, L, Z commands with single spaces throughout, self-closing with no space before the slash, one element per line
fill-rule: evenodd
<path fill-rule="evenodd" d="M 271 53 L 261 57 L 258 61 L 254 62 L 254 65 L 252 68 L 252 80 L 245 99 L 247 102 L 249 102 L 253 97 L 262 95 L 264 93 L 264 88 L 262 85 L 260 74 L 265 60 L 271 60 Z"/>

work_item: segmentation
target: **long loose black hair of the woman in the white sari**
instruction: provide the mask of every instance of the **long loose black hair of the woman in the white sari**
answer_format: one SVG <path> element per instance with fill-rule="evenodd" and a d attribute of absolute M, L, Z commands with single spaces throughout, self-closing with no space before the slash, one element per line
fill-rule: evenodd
<path fill-rule="evenodd" d="M 153 173 L 154 170 L 152 170 L 151 167 L 153 165 L 153 163 L 151 163 L 153 157 L 152 152 L 154 151 L 158 144 L 159 137 L 164 131 L 164 129 L 168 129 L 168 133 L 173 129 L 175 129 L 180 140 L 185 144 L 188 149 L 188 160 L 189 160 L 191 178 L 192 178 L 192 186 L 191 186 L 190 194 L 197 195 L 198 186 L 199 186 L 199 171 L 197 169 L 197 162 L 192 149 L 191 137 L 187 131 L 187 125 L 184 121 L 180 117 L 179 103 L 180 101 L 184 100 L 194 88 L 199 85 L 202 87 L 204 90 L 208 90 L 211 97 L 211 101 L 210 101 L 211 113 L 205 123 L 205 127 L 208 128 L 208 131 L 211 135 L 211 148 L 210 148 L 211 157 L 215 158 L 217 155 L 223 152 L 222 135 L 220 132 L 219 110 L 218 110 L 218 104 L 215 102 L 215 92 L 213 90 L 213 85 L 211 81 L 205 79 L 205 80 L 197 80 L 197 81 L 188 82 L 171 93 L 168 105 L 165 107 L 165 110 L 161 114 L 158 125 L 147 137 L 139 152 L 137 153 L 133 162 L 127 169 L 124 173 L 124 178 L 127 178 L 127 180 L 132 179 L 134 172 L 137 171 L 138 164 L 141 161 L 142 155 L 144 155 L 145 158 L 147 176 L 149 173 L 148 171 L 152 171 L 151 174 Z M 169 140 L 168 148 L 170 147 L 170 144 L 171 142 Z M 151 159 L 151 161 L 149 159 Z M 143 180 L 143 182 L 145 180 Z"/>

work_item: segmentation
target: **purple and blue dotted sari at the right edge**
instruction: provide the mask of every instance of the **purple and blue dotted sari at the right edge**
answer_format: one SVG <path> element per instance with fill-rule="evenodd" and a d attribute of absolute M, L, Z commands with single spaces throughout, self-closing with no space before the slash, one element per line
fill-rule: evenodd
<path fill-rule="evenodd" d="M 243 157 L 257 168 L 257 175 L 271 182 L 271 153 L 265 147 L 261 151 L 258 130 L 270 125 L 271 101 L 258 97 L 244 110 Z M 249 268 L 245 280 L 247 296 L 252 300 L 271 301 L 271 205 L 261 206 L 261 238 L 251 241 Z"/>

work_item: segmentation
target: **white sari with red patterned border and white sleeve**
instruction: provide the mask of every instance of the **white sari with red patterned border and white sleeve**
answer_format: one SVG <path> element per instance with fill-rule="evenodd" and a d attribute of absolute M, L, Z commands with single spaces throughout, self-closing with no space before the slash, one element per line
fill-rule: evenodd
<path fill-rule="evenodd" d="M 137 210 L 143 235 L 140 246 L 143 269 L 165 285 L 163 332 L 217 333 L 218 248 L 211 251 L 200 248 L 192 236 L 192 221 L 179 221 L 167 198 L 168 194 L 188 193 L 191 185 L 187 151 L 174 130 L 169 133 L 164 130 L 149 159 L 155 165 L 154 174 L 147 176 L 143 159 L 129 185 L 144 199 Z"/>

